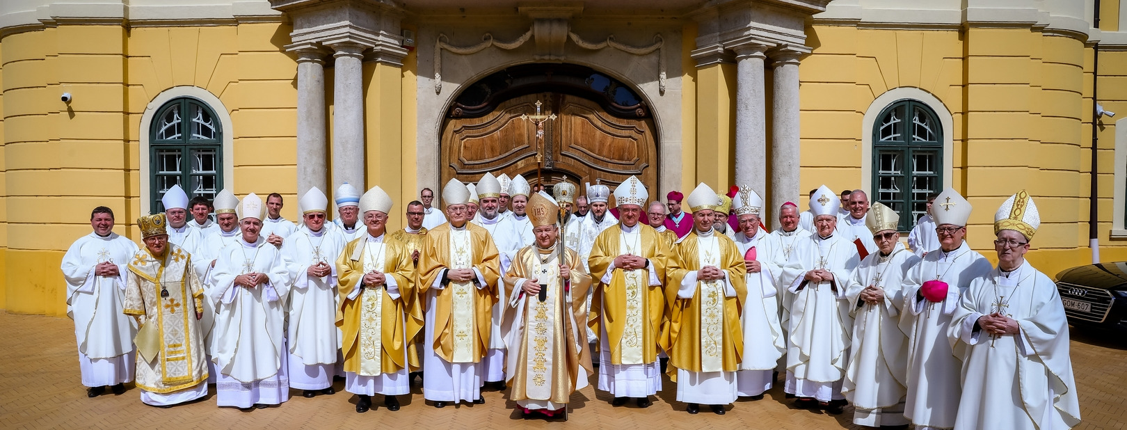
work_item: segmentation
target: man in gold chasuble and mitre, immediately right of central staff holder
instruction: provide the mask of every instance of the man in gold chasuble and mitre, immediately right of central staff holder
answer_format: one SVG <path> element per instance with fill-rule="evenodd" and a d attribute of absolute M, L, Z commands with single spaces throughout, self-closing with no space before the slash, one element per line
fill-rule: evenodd
<path fill-rule="evenodd" d="M 595 188 L 595 185 L 592 188 Z M 614 190 L 621 223 L 598 234 L 588 265 L 595 287 L 587 325 L 598 334 L 598 389 L 614 406 L 648 407 L 662 389 L 658 341 L 665 318 L 665 267 L 672 251 L 639 222 L 649 193 L 631 176 Z"/>

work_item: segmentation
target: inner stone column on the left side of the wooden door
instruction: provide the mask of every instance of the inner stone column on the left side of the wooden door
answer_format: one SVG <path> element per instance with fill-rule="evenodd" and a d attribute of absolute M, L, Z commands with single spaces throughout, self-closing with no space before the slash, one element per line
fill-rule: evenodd
<path fill-rule="evenodd" d="M 363 45 L 331 46 L 332 82 L 332 186 L 347 182 L 356 190 L 367 188 L 364 182 L 364 76 L 361 62 Z"/>

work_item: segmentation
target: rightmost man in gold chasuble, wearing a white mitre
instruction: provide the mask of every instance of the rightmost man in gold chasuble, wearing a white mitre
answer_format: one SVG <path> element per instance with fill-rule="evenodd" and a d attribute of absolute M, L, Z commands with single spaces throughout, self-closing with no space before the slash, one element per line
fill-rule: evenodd
<path fill-rule="evenodd" d="M 738 397 L 747 271 L 736 244 L 716 230 L 713 212 L 725 201 L 701 183 L 685 202 L 693 229 L 677 240 L 666 267 L 669 321 L 660 342 L 669 354 L 677 402 L 686 403 L 690 414 L 704 403 L 724 415 L 725 405 Z"/>

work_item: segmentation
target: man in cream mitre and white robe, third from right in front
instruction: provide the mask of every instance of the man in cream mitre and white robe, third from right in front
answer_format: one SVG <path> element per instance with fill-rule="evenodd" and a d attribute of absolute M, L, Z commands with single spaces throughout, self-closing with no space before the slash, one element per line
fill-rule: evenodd
<path fill-rule="evenodd" d="M 907 337 L 899 327 L 904 274 L 920 262 L 900 244 L 900 217 L 880 202 L 869 208 L 866 225 L 877 252 L 853 271 L 845 297 L 853 317 L 853 341 L 842 393 L 853 404 L 853 423 L 868 427 L 908 424 L 904 419 Z"/>

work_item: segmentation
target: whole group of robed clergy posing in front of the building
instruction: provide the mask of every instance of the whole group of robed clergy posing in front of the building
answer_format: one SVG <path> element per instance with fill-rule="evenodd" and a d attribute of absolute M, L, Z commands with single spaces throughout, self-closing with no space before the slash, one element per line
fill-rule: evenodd
<path fill-rule="evenodd" d="M 174 186 L 163 213 L 137 220 L 141 248 L 99 207 L 62 264 L 82 384 L 95 397 L 135 379 L 167 407 L 215 383 L 220 406 L 252 409 L 290 388 L 334 394 L 344 377 L 357 412 L 374 395 L 397 411 L 425 369 L 435 407 L 482 404 L 491 387 L 525 416 L 566 419 L 596 369 L 613 405 L 639 407 L 664 371 L 691 414 L 762 398 L 783 371 L 797 406 L 848 401 L 862 425 L 1080 421 L 1061 298 L 1023 258 L 1040 223 L 1024 191 L 995 216 L 997 267 L 964 240 L 970 204 L 950 188 L 929 210 L 935 247 L 913 251 L 896 211 L 826 186 L 807 211 L 779 208 L 771 232 L 747 186 L 669 193 L 669 213 L 636 177 L 613 209 L 606 185 L 552 191 L 451 179 L 443 210 L 424 188 L 388 231 L 379 186 L 338 187 L 331 222 L 311 188 L 300 225 L 278 194 L 189 201 Z"/>

